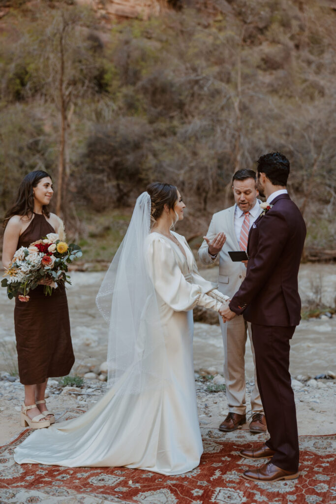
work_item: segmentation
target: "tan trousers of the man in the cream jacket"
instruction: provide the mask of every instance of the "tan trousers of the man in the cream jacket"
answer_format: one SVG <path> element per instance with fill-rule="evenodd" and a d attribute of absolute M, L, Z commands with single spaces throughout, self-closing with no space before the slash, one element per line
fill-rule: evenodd
<path fill-rule="evenodd" d="M 234 319 L 225 324 L 221 317 L 219 317 L 219 321 L 223 336 L 224 378 L 229 411 L 238 413 L 239 415 L 246 413 L 245 346 L 248 332 L 254 362 L 254 387 L 251 393 L 251 410 L 252 413 L 263 412 L 257 386 L 251 324 L 246 322 L 242 315 L 236 315 Z"/>

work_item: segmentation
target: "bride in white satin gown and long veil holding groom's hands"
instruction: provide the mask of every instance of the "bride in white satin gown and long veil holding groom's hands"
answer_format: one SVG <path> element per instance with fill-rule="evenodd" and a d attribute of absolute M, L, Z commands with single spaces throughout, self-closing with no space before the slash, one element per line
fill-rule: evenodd
<path fill-rule="evenodd" d="M 15 450 L 19 464 L 165 475 L 199 464 L 192 308 L 221 313 L 228 298 L 198 274 L 185 238 L 171 231 L 184 208 L 170 184 L 152 183 L 139 196 L 96 300 L 109 321 L 111 388 L 80 417 L 33 432 Z"/>

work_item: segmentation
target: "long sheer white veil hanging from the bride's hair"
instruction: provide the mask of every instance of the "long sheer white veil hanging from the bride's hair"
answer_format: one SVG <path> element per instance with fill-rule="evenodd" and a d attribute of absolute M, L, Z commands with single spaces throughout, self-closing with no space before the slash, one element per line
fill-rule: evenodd
<path fill-rule="evenodd" d="M 161 388 L 167 379 L 159 308 L 147 267 L 151 198 L 137 199 L 127 232 L 97 294 L 108 330 L 108 386 L 139 394 Z"/>

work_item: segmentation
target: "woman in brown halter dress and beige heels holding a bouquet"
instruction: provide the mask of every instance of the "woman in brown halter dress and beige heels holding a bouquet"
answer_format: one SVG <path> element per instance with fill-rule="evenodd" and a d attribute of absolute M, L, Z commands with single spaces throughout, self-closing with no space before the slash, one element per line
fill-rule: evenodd
<path fill-rule="evenodd" d="M 48 210 L 52 195 L 51 177 L 45 171 L 32 171 L 24 177 L 17 200 L 5 216 L 5 268 L 18 248 L 62 228 L 62 221 Z M 55 421 L 44 399 L 48 377 L 69 374 L 75 361 L 65 287 L 59 285 L 51 296 L 45 296 L 43 284 L 50 285 L 51 280 L 40 284 L 29 292 L 28 302 L 16 298 L 14 309 L 19 376 L 25 386 L 21 424 L 34 429 Z"/>

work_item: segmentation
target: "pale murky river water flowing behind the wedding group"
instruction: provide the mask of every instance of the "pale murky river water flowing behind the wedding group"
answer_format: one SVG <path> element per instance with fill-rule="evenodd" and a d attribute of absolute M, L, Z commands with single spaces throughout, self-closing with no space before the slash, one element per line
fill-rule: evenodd
<path fill-rule="evenodd" d="M 216 280 L 218 268 L 200 270 L 209 280 Z M 95 305 L 95 296 L 104 272 L 73 272 L 73 284 L 68 289 L 72 338 L 76 355 L 74 372 L 98 370 L 106 359 L 107 327 Z M 334 306 L 336 267 L 325 264 L 301 265 L 299 289 L 302 301 L 318 299 Z M 14 301 L 0 289 L 0 371 L 16 368 Z M 336 316 L 332 319 L 301 321 L 291 342 L 290 369 L 294 376 L 315 376 L 330 370 L 336 372 L 335 354 Z M 195 324 L 194 367 L 212 373 L 222 372 L 223 345 L 219 326 Z M 249 343 L 246 345 L 246 375 L 253 376 L 253 362 Z"/>

